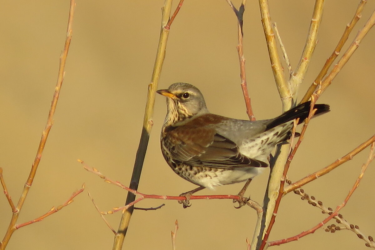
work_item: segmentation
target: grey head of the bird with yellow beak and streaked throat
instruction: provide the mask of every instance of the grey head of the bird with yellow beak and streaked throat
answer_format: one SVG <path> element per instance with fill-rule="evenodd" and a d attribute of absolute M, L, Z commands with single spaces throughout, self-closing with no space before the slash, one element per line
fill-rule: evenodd
<path fill-rule="evenodd" d="M 168 89 L 156 92 L 167 97 L 164 125 L 187 122 L 189 118 L 209 113 L 201 91 L 188 83 L 173 83 Z"/>

